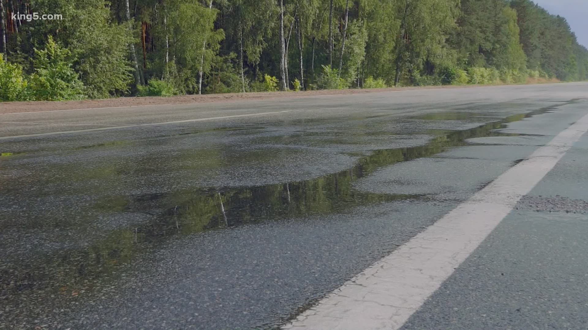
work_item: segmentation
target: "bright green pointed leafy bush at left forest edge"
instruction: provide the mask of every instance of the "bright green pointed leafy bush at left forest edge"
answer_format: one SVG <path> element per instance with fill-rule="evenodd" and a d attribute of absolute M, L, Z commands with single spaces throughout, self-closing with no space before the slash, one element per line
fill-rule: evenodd
<path fill-rule="evenodd" d="M 69 50 L 61 48 L 49 36 L 45 49 L 35 49 L 35 72 L 29 78 L 31 98 L 44 101 L 83 99 L 84 86 L 72 68 L 73 62 Z"/>

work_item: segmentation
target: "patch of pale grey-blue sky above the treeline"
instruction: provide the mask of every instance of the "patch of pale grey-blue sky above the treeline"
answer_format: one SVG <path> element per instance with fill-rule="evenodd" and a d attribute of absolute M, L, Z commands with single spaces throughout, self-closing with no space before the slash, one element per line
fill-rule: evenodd
<path fill-rule="evenodd" d="M 588 0 L 534 0 L 550 14 L 567 19 L 578 43 L 588 47 Z"/>

